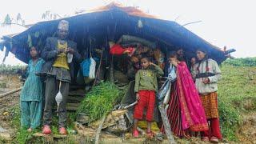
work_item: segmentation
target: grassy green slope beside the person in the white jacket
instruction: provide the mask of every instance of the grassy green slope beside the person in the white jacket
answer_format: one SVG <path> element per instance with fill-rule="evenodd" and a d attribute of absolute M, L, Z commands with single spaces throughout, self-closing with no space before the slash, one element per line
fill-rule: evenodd
<path fill-rule="evenodd" d="M 242 114 L 256 110 L 256 58 L 229 59 L 222 63 L 221 69 L 218 105 L 222 134 L 235 141 Z"/>

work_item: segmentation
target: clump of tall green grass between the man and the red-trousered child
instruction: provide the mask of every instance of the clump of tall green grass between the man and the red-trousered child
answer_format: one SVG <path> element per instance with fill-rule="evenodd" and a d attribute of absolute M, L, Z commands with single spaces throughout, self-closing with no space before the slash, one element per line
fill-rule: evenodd
<path fill-rule="evenodd" d="M 121 101 L 122 95 L 122 90 L 119 90 L 118 86 L 111 82 L 102 82 L 86 94 L 86 98 L 79 106 L 78 113 L 88 114 L 90 121 L 98 120 Z"/>

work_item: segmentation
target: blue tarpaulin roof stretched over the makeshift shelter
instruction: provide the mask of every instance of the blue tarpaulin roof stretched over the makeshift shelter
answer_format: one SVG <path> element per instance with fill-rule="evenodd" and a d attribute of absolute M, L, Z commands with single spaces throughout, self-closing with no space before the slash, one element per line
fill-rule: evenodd
<path fill-rule="evenodd" d="M 118 40 L 123 34 L 130 34 L 158 42 L 158 46 L 165 52 L 182 47 L 186 57 L 194 57 L 198 48 L 206 49 L 210 58 L 218 62 L 226 59 L 225 54 L 218 47 L 211 45 L 196 34 L 187 30 L 177 22 L 166 21 L 143 13 L 134 7 L 123 7 L 116 3 L 99 7 L 83 14 L 74 15 L 66 19 L 70 22 L 70 39 L 78 43 L 78 50 L 86 50 L 91 44 L 94 48 L 106 46 L 107 40 Z M 28 62 L 29 42 L 43 48 L 46 38 L 53 36 L 58 22 L 62 19 L 38 22 L 26 31 L 11 37 L 11 44 L 6 47 L 22 62 Z M 142 21 L 142 28 L 138 28 L 138 21 Z M 30 35 L 30 38 L 28 38 Z"/>

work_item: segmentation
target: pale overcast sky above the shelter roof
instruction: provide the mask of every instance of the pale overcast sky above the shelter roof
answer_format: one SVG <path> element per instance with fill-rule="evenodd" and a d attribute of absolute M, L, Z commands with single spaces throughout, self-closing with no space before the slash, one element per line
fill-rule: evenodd
<path fill-rule="evenodd" d="M 6 14 L 16 18 L 22 14 L 26 24 L 42 21 L 46 10 L 64 16 L 72 15 L 77 10 L 90 10 L 104 6 L 110 0 L 7 0 L 0 4 L 0 22 Z M 139 9 L 157 15 L 160 18 L 176 21 L 179 24 L 202 21 L 186 26 L 201 38 L 218 47 L 227 46 L 237 50 L 237 58 L 255 57 L 256 8 L 253 0 L 119 0 L 123 6 L 138 6 Z M 0 36 L 25 30 L 21 26 L 0 27 Z M 0 51 L 0 61 L 3 54 Z M 0 62 L 2 63 L 2 62 Z M 6 59 L 6 64 L 18 64 L 14 56 Z"/>

